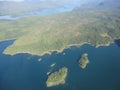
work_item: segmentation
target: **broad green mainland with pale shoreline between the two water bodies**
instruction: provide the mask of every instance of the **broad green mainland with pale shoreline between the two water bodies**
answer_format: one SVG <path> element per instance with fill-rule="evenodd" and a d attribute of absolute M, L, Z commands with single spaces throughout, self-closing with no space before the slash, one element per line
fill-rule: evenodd
<path fill-rule="evenodd" d="M 0 20 L 0 42 L 15 40 L 4 54 L 32 55 L 61 52 L 70 46 L 106 46 L 120 39 L 120 9 L 117 7 L 75 8 L 45 16 Z"/>

